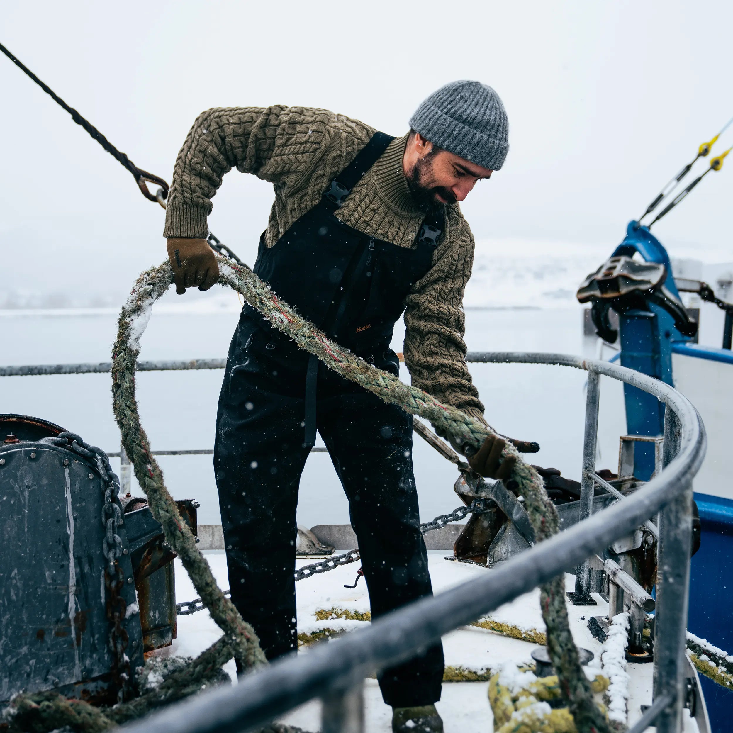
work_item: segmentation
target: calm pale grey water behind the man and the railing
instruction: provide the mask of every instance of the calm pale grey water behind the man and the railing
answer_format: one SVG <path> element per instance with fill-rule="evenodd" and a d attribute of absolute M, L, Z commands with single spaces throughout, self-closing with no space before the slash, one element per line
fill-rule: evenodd
<path fill-rule="evenodd" d="M 236 298 L 235 298 L 236 303 Z M 154 309 L 155 311 L 155 309 Z M 141 339 L 143 359 L 189 359 L 226 356 L 237 313 L 153 313 Z M 474 310 L 466 312 L 470 350 L 583 350 L 581 309 Z M 4 317 L 4 364 L 64 364 L 108 361 L 116 333 L 112 313 Z M 402 334 L 394 347 L 402 350 Z M 584 405 L 581 372 L 559 367 L 473 364 L 471 372 L 486 405 L 487 419 L 506 435 L 535 440 L 542 452 L 533 463 L 553 465 L 578 478 L 581 465 Z M 142 422 L 153 449 L 212 448 L 221 370 L 143 372 L 136 377 Z M 402 378 L 408 372 L 402 367 Z M 4 377 L 0 399 L 4 412 L 43 417 L 107 451 L 119 450 L 111 412 L 109 375 Z M 602 410 L 613 408 L 614 385 L 606 390 Z M 620 388 L 616 390 L 620 397 Z M 616 405 L 615 413 L 618 413 Z M 622 416 L 622 413 L 620 413 Z M 618 414 L 616 414 L 618 418 Z M 600 441 L 601 467 L 614 468 L 622 421 L 616 419 L 608 441 Z M 323 443 L 320 443 L 321 445 Z M 419 437 L 414 465 L 423 521 L 460 504 L 452 485 L 456 472 Z M 196 498 L 199 522 L 219 523 L 211 456 L 161 457 L 166 483 L 175 498 Z M 117 470 L 119 463 L 113 460 Z M 309 457 L 301 481 L 298 523 L 348 523 L 347 502 L 328 454 Z"/>

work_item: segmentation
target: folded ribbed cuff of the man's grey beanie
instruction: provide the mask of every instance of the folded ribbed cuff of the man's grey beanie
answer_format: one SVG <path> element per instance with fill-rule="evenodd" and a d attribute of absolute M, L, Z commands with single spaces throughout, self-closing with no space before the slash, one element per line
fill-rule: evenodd
<path fill-rule="evenodd" d="M 410 127 L 432 144 L 482 168 L 498 171 L 507 159 L 508 143 L 466 127 L 427 102 L 410 118 Z"/>

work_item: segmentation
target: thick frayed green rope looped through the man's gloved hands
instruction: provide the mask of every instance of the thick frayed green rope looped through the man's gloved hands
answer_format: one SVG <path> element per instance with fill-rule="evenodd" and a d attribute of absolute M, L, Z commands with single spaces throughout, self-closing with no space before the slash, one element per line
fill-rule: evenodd
<path fill-rule="evenodd" d="M 238 266 L 224 257 L 217 257 L 219 281 L 239 292 L 271 325 L 290 336 L 295 343 L 317 356 L 339 375 L 353 380 L 386 402 L 399 405 L 408 413 L 429 420 L 435 430 L 452 435 L 473 454 L 488 435 L 490 428 L 450 405 L 413 386 L 399 377 L 373 367 L 349 350 L 329 340 L 322 331 L 301 317 L 270 290 L 246 266 Z M 140 350 L 139 339 L 150 319 L 152 304 L 173 282 L 168 262 L 141 274 L 119 316 L 117 341 L 112 354 L 112 395 L 114 414 L 122 434 L 122 444 L 133 464 L 135 475 L 150 502 L 152 515 L 163 526 L 166 539 L 180 556 L 196 591 L 209 608 L 217 625 L 232 644 L 235 655 L 246 666 L 264 661 L 257 636 L 231 601 L 216 585 L 209 566 L 196 548 L 196 542 L 181 519 L 177 507 L 163 483 L 163 472 L 153 457 L 150 442 L 141 424 L 135 397 L 135 367 Z M 534 468 L 521 460 L 514 446 L 507 441 L 504 459 L 514 456 L 515 467 L 511 481 L 517 493 L 524 496 L 526 509 L 538 540 L 547 539 L 559 530 L 557 511 L 549 500 L 542 479 Z M 540 594 L 542 616 L 548 628 L 548 649 L 559 684 L 578 731 L 608 731 L 608 723 L 592 701 L 592 690 L 578 658 L 572 640 L 565 605 L 564 577 L 561 575 L 542 586 Z"/>

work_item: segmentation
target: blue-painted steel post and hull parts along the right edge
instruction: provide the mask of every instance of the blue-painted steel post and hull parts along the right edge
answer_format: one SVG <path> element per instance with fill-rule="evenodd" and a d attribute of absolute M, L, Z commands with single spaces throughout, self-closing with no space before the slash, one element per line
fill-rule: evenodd
<path fill-rule="evenodd" d="M 637 253 L 645 262 L 664 265 L 668 273 L 666 287 L 679 298 L 666 249 L 647 226 L 632 221 L 613 256 L 633 257 Z M 672 354 L 679 353 L 731 364 L 733 377 L 730 320 L 729 311 L 726 311 L 723 345 L 727 348 L 718 349 L 693 344 L 690 336 L 680 333 L 674 317 L 658 303 L 647 301 L 644 308 L 622 311 L 619 313 L 621 364 L 673 386 Z M 629 443 L 630 449 L 633 446 L 633 475 L 648 481 L 657 463 L 656 444 L 649 438 L 662 435 L 665 405 L 652 394 L 628 383 L 624 385 L 624 394 L 628 435 L 647 438 Z M 704 490 L 704 487 L 699 488 Z M 730 650 L 733 649 L 733 577 L 730 566 L 733 558 L 733 501 L 706 493 L 696 493 L 695 499 L 701 520 L 701 546 L 691 562 L 688 629 L 712 644 Z M 713 731 L 729 730 L 733 716 L 733 692 L 724 690 L 707 677 L 701 677 L 701 684 Z"/>

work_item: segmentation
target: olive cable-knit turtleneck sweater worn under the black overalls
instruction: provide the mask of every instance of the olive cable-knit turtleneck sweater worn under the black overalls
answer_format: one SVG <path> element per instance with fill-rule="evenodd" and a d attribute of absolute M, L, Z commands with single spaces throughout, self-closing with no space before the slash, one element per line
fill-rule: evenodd
<path fill-rule="evenodd" d="M 211 199 L 232 168 L 273 184 L 275 202 L 265 232 L 273 246 L 314 207 L 328 183 L 375 132 L 356 119 L 323 109 L 271 106 L 214 108 L 196 119 L 178 154 L 166 211 L 166 237 L 206 237 Z M 407 137 L 391 142 L 336 210 L 345 224 L 411 247 L 424 213 L 410 195 L 402 156 Z M 463 292 L 471 277 L 474 237 L 455 204 L 432 268 L 416 282 L 405 305 L 405 364 L 415 386 L 483 419 L 463 342 Z"/>

